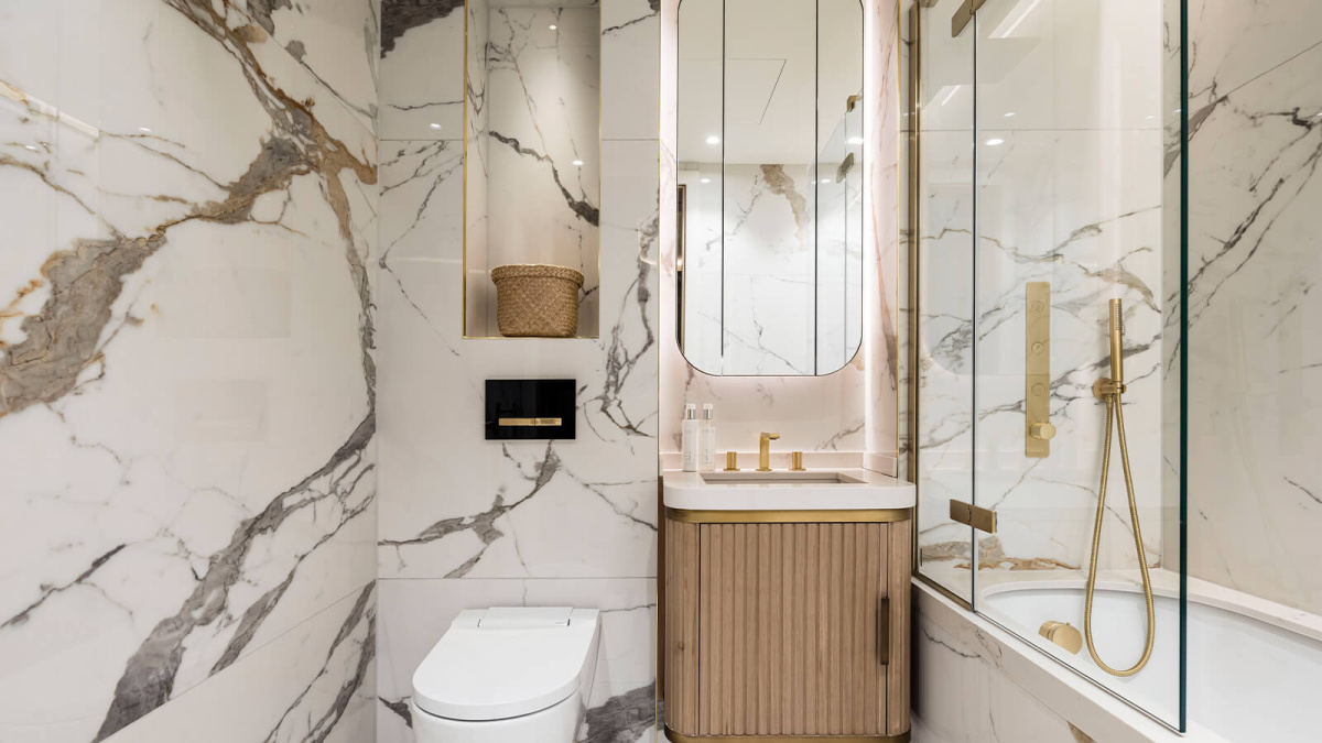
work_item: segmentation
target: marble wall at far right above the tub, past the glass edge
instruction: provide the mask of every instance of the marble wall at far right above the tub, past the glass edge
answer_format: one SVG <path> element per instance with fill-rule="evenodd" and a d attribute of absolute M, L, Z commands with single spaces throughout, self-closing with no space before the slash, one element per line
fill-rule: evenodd
<path fill-rule="evenodd" d="M 1322 613 L 1322 5 L 1188 5 L 1188 571 Z"/>

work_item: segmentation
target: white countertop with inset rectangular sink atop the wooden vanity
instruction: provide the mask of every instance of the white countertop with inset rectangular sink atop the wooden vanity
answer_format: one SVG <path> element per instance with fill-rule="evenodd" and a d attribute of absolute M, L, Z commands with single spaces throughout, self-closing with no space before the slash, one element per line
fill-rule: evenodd
<path fill-rule="evenodd" d="M 683 510 L 867 510 L 912 508 L 911 483 L 862 468 L 674 472 L 661 497 Z"/>

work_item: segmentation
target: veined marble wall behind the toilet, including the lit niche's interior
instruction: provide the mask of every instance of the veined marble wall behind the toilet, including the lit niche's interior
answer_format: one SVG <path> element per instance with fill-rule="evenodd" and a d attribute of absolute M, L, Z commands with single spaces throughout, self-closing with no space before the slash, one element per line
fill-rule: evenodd
<path fill-rule="evenodd" d="M 411 740 L 412 672 L 459 611 L 525 604 L 603 611 L 583 739 L 654 735 L 658 200 L 646 100 L 656 106 L 657 9 L 646 0 L 538 5 L 468 3 L 467 82 L 461 13 L 408 28 L 382 59 L 383 137 L 398 139 L 382 155 L 375 299 L 382 743 Z M 387 8 L 383 28 L 391 22 Z M 435 70 L 436 85 L 407 100 L 467 99 L 467 132 L 440 107 L 385 132 L 390 106 L 406 102 L 386 91 L 407 93 L 424 77 L 415 69 Z M 440 86 L 451 75 L 457 83 Z M 574 118 L 588 108 L 555 90 L 591 97 L 590 127 Z M 516 209 L 547 218 L 531 249 L 563 249 L 545 255 L 590 275 L 580 334 L 595 337 L 465 337 L 465 309 L 468 334 L 488 334 L 488 317 L 494 324 L 486 272 L 502 260 L 502 241 L 516 239 L 497 235 L 531 223 L 509 225 Z M 465 256 L 465 230 L 469 245 L 490 251 Z M 508 377 L 576 379 L 576 440 L 485 442 L 484 381 Z"/>

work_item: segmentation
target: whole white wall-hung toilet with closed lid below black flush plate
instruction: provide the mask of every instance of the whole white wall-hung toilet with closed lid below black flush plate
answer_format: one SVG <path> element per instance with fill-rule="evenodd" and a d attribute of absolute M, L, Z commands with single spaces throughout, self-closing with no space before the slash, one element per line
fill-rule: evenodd
<path fill-rule="evenodd" d="M 460 613 L 414 673 L 414 739 L 574 743 L 599 645 L 596 609 Z"/>

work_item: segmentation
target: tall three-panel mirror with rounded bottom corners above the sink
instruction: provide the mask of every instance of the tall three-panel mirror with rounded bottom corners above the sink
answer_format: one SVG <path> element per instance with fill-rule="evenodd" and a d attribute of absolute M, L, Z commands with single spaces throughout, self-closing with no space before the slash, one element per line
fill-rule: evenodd
<path fill-rule="evenodd" d="M 862 340 L 862 4 L 683 0 L 678 22 L 680 348 L 830 374 Z"/>

